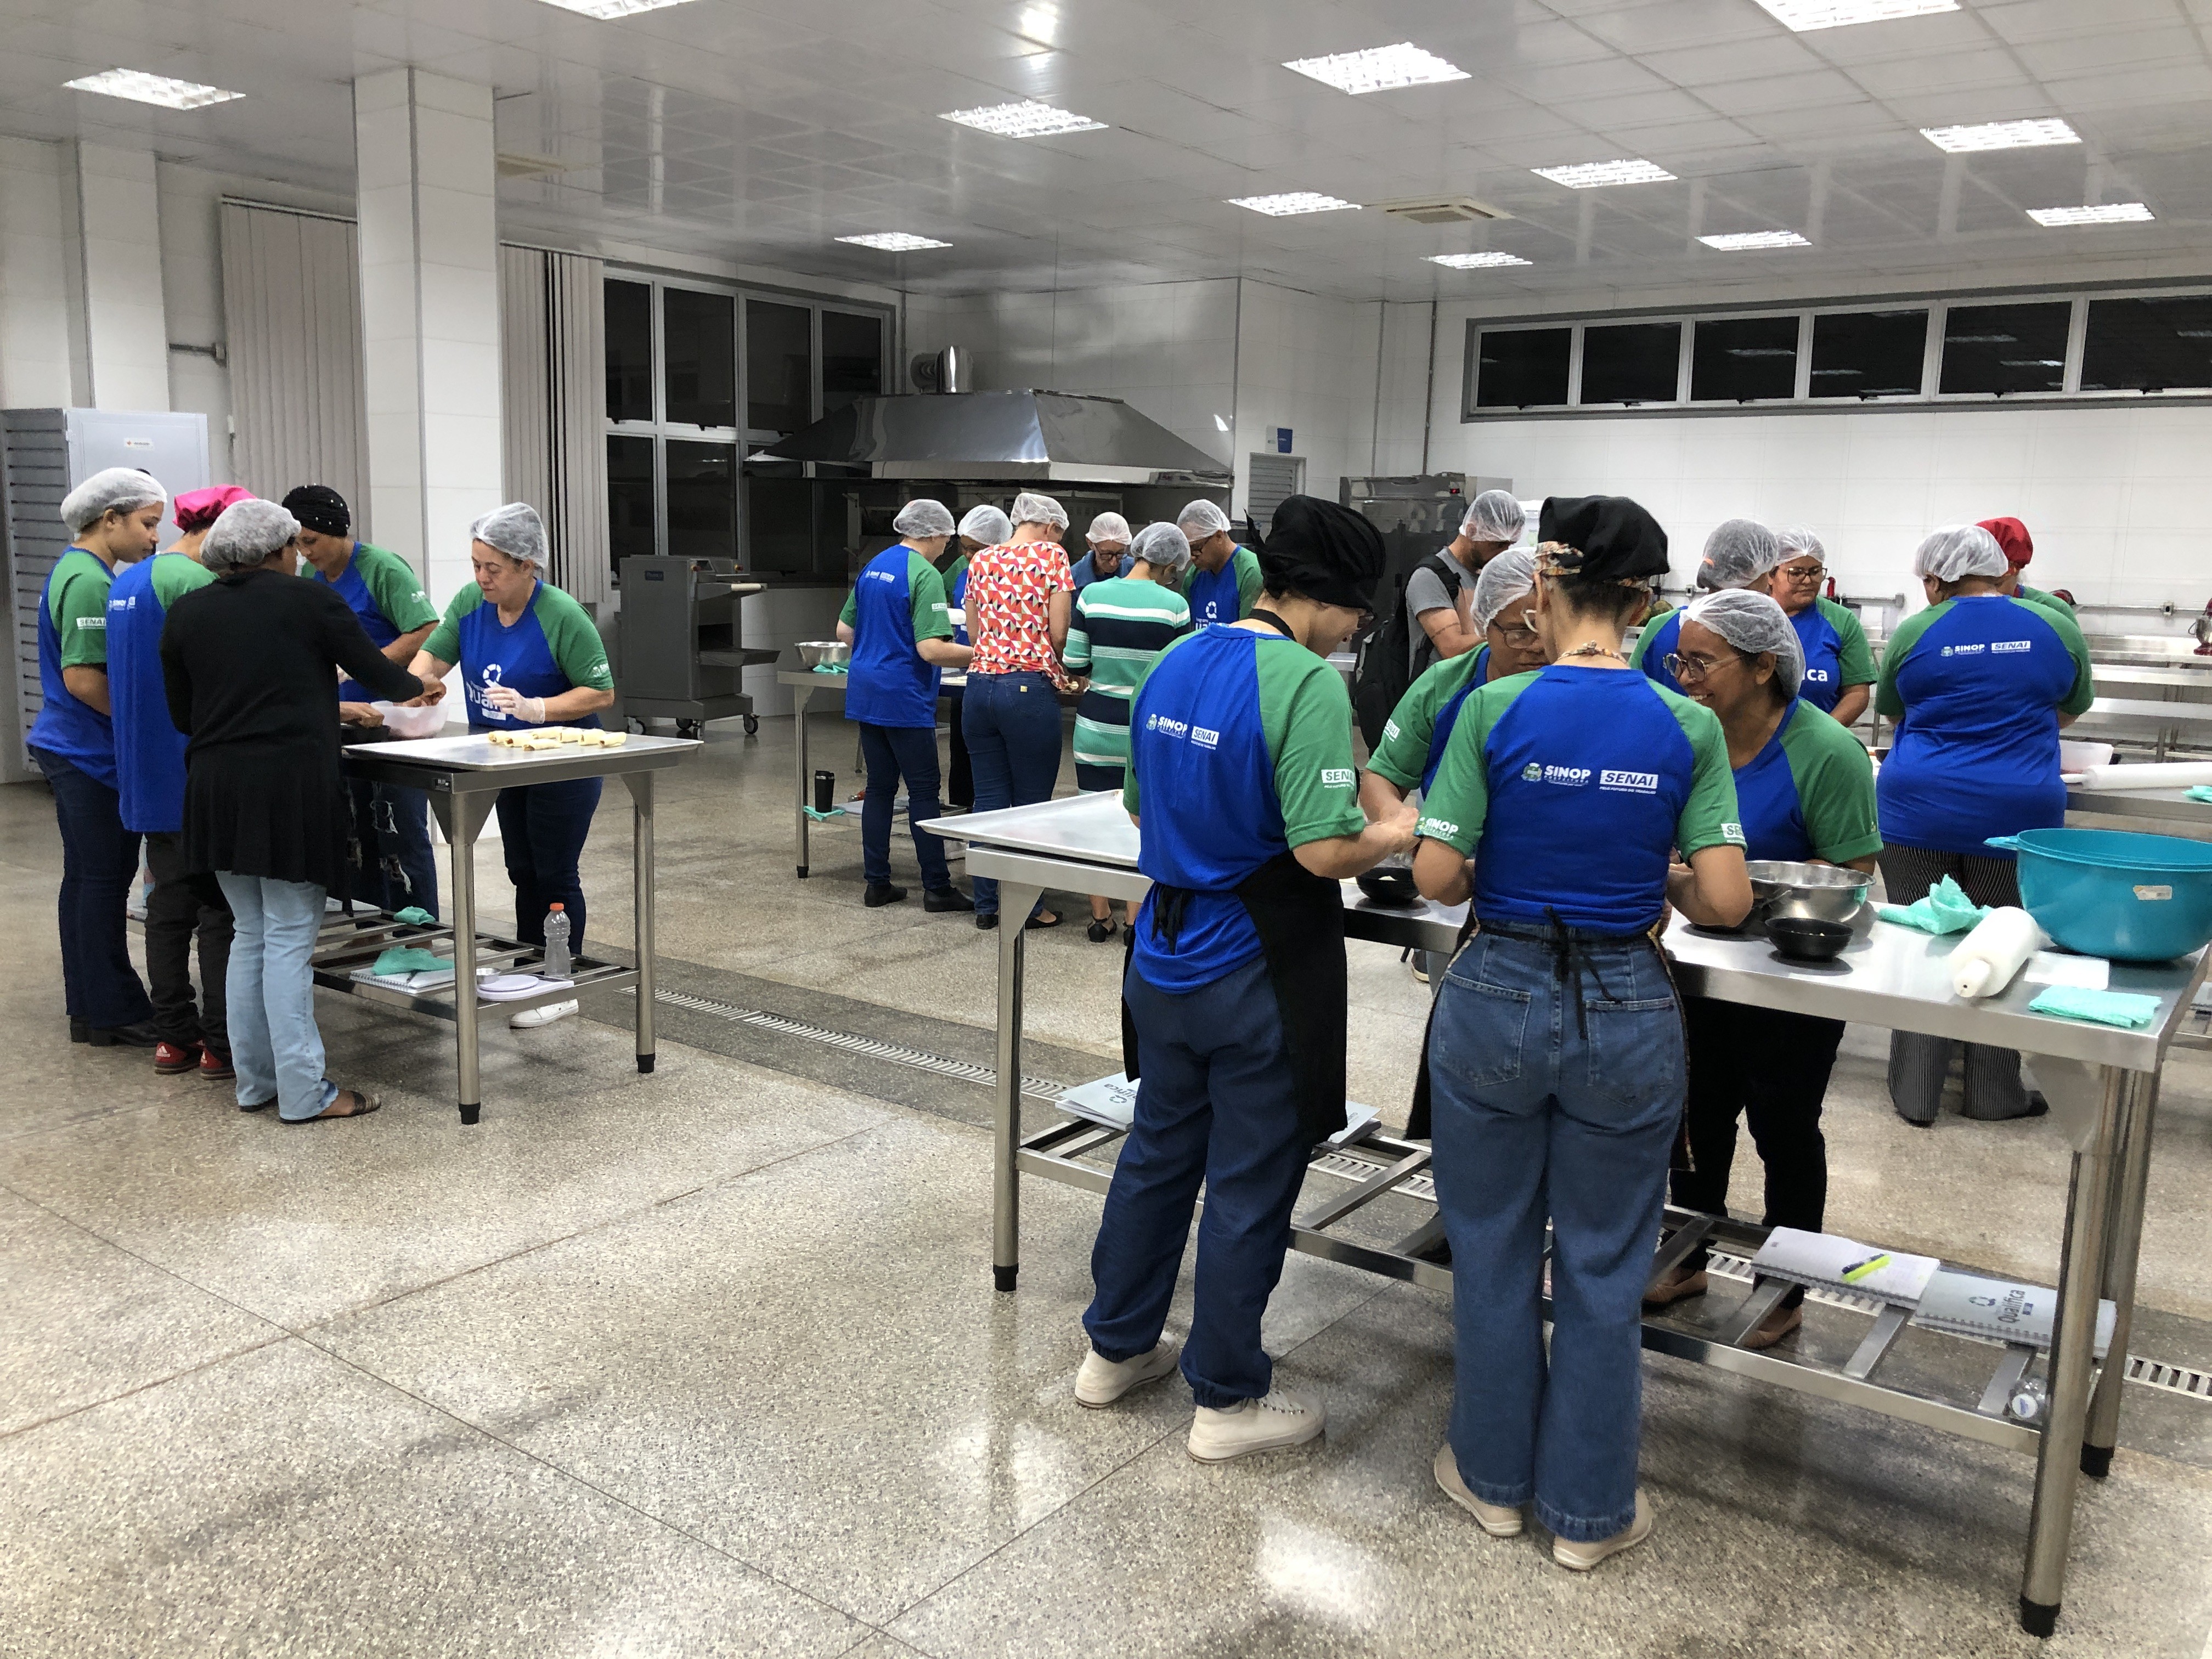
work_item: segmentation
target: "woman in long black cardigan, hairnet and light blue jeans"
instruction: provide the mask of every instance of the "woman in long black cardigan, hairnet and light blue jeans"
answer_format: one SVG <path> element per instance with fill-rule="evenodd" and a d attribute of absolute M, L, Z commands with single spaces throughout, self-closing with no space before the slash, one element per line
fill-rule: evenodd
<path fill-rule="evenodd" d="M 276 502 L 223 509 L 161 628 L 168 712 L 184 750 L 186 869 L 215 872 L 237 916 L 230 1057 L 239 1110 L 288 1124 L 361 1117 L 378 1102 L 323 1077 L 310 960 L 345 867 L 332 668 L 392 701 L 445 695 L 385 657 L 334 588 L 294 577 L 299 520 Z"/>

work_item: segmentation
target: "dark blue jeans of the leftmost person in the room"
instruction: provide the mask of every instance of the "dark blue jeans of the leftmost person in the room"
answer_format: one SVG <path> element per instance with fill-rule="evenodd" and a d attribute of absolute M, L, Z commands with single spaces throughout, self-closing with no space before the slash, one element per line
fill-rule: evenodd
<path fill-rule="evenodd" d="M 100 779 L 60 754 L 31 750 L 62 827 L 62 1000 L 71 1020 L 111 1031 L 153 1020 L 146 984 L 131 967 L 124 907 L 137 880 L 135 832 L 124 830 L 122 805 Z"/>

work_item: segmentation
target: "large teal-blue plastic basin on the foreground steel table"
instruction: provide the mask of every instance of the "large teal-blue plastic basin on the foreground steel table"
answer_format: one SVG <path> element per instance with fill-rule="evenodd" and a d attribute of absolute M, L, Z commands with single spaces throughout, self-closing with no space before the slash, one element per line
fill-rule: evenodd
<path fill-rule="evenodd" d="M 2020 902 L 2068 951 L 2168 962 L 2212 940 L 2212 845 L 2132 830 L 1991 836 L 2020 854 Z"/>

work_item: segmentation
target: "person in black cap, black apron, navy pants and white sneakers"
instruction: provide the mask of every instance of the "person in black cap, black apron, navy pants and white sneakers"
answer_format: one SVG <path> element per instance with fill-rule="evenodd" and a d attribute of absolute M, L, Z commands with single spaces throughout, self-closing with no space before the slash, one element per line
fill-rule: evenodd
<path fill-rule="evenodd" d="M 1352 697 L 1325 657 L 1383 577 L 1383 533 L 1290 495 L 1261 544 L 1252 615 L 1168 646 L 1137 690 L 1121 801 L 1137 821 L 1137 911 L 1121 995 L 1135 1121 L 1121 1141 L 1084 1314 L 1088 1407 L 1177 1367 L 1164 1336 L 1190 1210 L 1197 1305 L 1181 1369 L 1190 1455 L 1225 1462 L 1323 1431 L 1323 1402 L 1274 1385 L 1261 1314 L 1283 1272 L 1314 1146 L 1345 1126 L 1345 907 L 1338 883 L 1411 845 L 1352 787 Z"/>

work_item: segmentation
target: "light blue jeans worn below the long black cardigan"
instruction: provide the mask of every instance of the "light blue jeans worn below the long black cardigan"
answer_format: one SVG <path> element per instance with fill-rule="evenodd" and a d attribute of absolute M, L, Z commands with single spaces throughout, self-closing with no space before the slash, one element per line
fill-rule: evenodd
<path fill-rule="evenodd" d="M 316 1117 L 338 1097 L 323 1075 L 323 1033 L 314 1024 L 314 936 L 323 931 L 323 889 L 215 872 L 230 900 L 230 1064 L 239 1106 L 268 1106 L 285 1121 Z"/>

